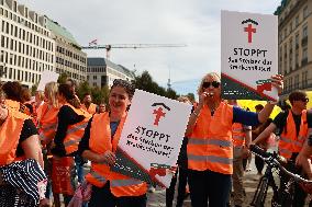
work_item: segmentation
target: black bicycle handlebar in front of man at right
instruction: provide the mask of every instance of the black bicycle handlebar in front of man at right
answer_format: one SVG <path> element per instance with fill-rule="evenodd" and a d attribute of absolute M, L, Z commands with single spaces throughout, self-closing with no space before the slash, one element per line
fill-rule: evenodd
<path fill-rule="evenodd" d="M 292 172 L 289 172 L 286 168 L 283 168 L 282 164 L 280 163 L 281 161 L 279 161 L 279 156 L 277 153 L 267 152 L 256 145 L 252 145 L 249 147 L 249 149 L 250 149 L 252 153 L 261 158 L 267 164 L 275 164 L 276 166 L 278 166 L 278 169 L 280 169 L 282 172 L 285 172 L 287 175 L 293 177 L 296 182 L 312 184 L 312 181 L 303 179 L 299 174 L 294 174 Z"/>

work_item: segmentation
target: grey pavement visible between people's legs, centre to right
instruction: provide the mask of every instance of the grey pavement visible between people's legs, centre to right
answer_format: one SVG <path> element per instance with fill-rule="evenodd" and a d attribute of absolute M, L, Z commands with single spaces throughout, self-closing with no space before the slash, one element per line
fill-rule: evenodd
<path fill-rule="evenodd" d="M 249 172 L 245 172 L 244 175 L 244 186 L 245 186 L 245 192 L 246 192 L 246 197 L 244 199 L 244 204 L 243 207 L 248 207 L 250 206 L 253 196 L 256 192 L 258 182 L 260 176 L 257 175 L 257 171 L 256 171 L 256 166 L 255 166 L 255 160 L 253 158 L 252 160 L 252 164 L 250 164 L 250 169 L 252 171 Z M 265 169 L 264 171 L 265 172 Z M 277 181 L 279 182 L 279 181 Z M 176 195 L 175 198 L 177 197 L 177 191 L 176 191 Z M 270 200 L 272 197 L 272 191 L 271 188 L 268 189 L 268 194 L 267 194 L 267 198 L 266 198 L 266 203 L 265 203 L 265 207 L 270 207 Z M 310 198 L 309 198 L 310 199 Z M 176 200 L 174 200 L 174 206 Z M 308 203 L 308 199 L 307 199 Z M 166 191 L 161 189 L 161 188 L 156 188 L 156 191 L 154 193 L 148 193 L 147 194 L 147 207 L 165 207 L 166 206 Z M 233 202 L 232 202 L 232 206 Z M 305 205 L 307 207 L 309 207 L 309 205 Z M 188 197 L 185 200 L 183 207 L 191 207 L 191 202 L 190 202 L 190 197 Z"/>

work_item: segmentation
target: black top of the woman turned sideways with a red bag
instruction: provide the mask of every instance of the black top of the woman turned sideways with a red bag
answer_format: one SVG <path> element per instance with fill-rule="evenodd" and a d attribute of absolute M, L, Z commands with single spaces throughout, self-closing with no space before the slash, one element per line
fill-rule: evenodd
<path fill-rule="evenodd" d="M 54 138 L 55 147 L 51 152 L 58 157 L 66 156 L 64 139 L 66 137 L 67 128 L 69 125 L 80 123 L 85 119 L 85 116 L 76 114 L 76 112 L 68 105 L 64 105 L 59 108 L 57 114 L 58 124 Z"/>

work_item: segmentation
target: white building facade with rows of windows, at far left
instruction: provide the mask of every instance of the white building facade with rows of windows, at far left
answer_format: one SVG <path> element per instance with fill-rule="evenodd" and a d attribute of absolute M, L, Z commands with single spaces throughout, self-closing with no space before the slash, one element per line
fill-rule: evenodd
<path fill-rule="evenodd" d="M 32 87 L 43 70 L 55 71 L 55 41 L 46 21 L 15 0 L 0 0 L 1 81 Z"/>

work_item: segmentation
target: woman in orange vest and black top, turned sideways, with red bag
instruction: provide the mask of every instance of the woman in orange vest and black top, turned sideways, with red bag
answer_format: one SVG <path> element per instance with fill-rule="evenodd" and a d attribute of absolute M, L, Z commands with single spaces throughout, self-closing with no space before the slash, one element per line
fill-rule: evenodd
<path fill-rule="evenodd" d="M 57 129 L 51 152 L 53 154 L 52 184 L 54 194 L 63 194 L 66 206 L 69 204 L 75 186 L 74 156 L 83 135 L 90 114 L 76 105 L 76 96 L 68 84 L 59 84 Z M 66 173 L 64 173 L 64 171 Z M 66 179 L 65 179 L 66 177 Z M 58 206 L 58 205 L 57 205 Z"/>

